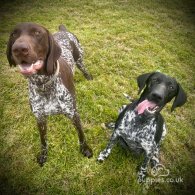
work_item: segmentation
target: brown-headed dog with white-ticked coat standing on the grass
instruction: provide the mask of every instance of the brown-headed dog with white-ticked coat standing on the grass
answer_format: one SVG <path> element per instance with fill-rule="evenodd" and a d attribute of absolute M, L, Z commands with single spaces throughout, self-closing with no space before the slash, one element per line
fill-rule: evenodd
<path fill-rule="evenodd" d="M 82 130 L 76 109 L 73 83 L 74 64 L 87 79 L 92 79 L 82 63 L 82 49 L 78 39 L 61 25 L 53 36 L 38 24 L 16 25 L 7 46 L 10 66 L 18 65 L 20 72 L 29 81 L 29 100 L 41 137 L 41 154 L 38 162 L 42 166 L 47 158 L 46 118 L 51 114 L 64 114 L 75 125 L 81 152 L 92 156 Z"/>

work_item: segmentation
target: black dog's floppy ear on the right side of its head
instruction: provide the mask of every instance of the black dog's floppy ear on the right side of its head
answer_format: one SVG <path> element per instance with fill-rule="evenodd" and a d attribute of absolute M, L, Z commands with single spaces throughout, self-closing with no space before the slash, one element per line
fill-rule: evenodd
<path fill-rule="evenodd" d="M 178 85 L 178 87 L 177 87 L 177 94 L 176 94 L 175 100 L 173 102 L 173 105 L 172 105 L 172 108 L 171 108 L 171 112 L 176 107 L 184 105 L 186 103 L 186 101 L 187 101 L 187 96 L 186 96 L 186 93 L 184 92 L 183 88 L 181 87 L 181 85 L 179 83 L 177 85 Z"/>

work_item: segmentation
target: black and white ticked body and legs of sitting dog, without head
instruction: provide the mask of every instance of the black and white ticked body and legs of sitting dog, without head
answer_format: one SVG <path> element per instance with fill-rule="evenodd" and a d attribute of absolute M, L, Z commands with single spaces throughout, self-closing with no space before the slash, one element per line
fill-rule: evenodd
<path fill-rule="evenodd" d="M 139 171 L 139 179 L 142 181 L 145 178 L 149 161 L 153 167 L 159 164 L 159 147 L 167 130 L 160 114 L 158 115 L 160 120 L 155 115 L 138 115 L 135 105 L 136 101 L 130 105 L 124 105 L 119 110 L 114 132 L 107 147 L 100 153 L 98 161 L 104 161 L 109 156 L 117 141 L 127 150 L 130 149 L 137 154 L 144 152 L 145 160 Z M 159 128 L 162 129 L 159 130 Z"/>

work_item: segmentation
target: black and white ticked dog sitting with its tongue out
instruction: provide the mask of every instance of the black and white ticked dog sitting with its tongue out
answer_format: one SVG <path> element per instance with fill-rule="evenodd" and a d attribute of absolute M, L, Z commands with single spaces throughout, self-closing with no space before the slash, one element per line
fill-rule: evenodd
<path fill-rule="evenodd" d="M 98 161 L 102 162 L 109 156 L 117 141 L 126 149 L 144 152 L 144 162 L 138 173 L 139 181 L 143 181 L 149 162 L 152 167 L 159 164 L 160 143 L 166 134 L 160 111 L 174 97 L 171 111 L 182 106 L 187 97 L 174 78 L 159 72 L 140 75 L 137 83 L 139 93 L 145 89 L 138 100 L 121 109 L 111 139 L 100 153 Z"/>

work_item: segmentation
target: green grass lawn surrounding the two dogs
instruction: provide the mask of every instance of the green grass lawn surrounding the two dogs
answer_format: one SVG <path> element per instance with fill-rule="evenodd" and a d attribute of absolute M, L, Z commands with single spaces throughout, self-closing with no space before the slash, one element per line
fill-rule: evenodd
<path fill-rule="evenodd" d="M 31 21 L 55 32 L 59 24 L 74 32 L 85 50 L 94 80 L 77 70 L 78 109 L 94 157 L 79 153 L 69 120 L 51 116 L 49 157 L 36 163 L 39 133 L 28 104 L 27 81 L 8 66 L 6 42 L 16 23 Z M 195 3 L 193 0 L 36 0 L 0 2 L 0 194 L 193 194 L 195 192 Z M 136 77 L 159 70 L 175 77 L 188 94 L 185 106 L 163 111 L 168 134 L 161 161 L 181 183 L 137 183 L 142 157 L 115 147 L 109 159 L 96 158 L 106 146 L 113 121 L 137 97 Z"/>

